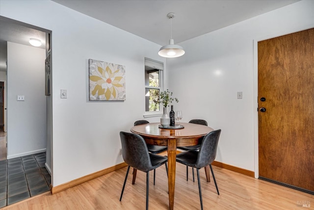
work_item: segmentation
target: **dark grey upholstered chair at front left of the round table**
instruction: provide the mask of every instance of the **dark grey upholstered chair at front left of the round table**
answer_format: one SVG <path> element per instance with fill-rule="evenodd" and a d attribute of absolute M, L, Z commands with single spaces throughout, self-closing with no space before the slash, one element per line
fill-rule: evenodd
<path fill-rule="evenodd" d="M 146 172 L 146 210 L 148 209 L 148 191 L 149 191 L 149 172 L 165 164 L 167 168 L 167 156 L 161 156 L 148 152 L 145 140 L 140 135 L 134 133 L 120 132 L 122 157 L 129 165 L 126 178 L 124 180 L 120 201 L 126 182 L 128 179 L 130 167 Z"/>

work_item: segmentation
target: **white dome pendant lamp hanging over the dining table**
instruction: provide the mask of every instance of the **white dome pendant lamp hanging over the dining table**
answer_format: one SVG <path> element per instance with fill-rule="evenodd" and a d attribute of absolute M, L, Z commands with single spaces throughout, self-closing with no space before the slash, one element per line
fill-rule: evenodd
<path fill-rule="evenodd" d="M 177 58 L 184 55 L 183 47 L 174 44 L 172 39 L 172 19 L 175 17 L 175 13 L 170 12 L 167 17 L 171 20 L 171 35 L 169 39 L 169 44 L 160 48 L 158 55 L 165 58 Z"/>

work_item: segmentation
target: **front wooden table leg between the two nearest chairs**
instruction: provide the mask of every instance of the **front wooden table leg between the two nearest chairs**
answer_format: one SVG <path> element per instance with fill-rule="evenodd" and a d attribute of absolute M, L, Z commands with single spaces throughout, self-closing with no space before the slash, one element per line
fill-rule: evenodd
<path fill-rule="evenodd" d="M 176 182 L 176 152 L 177 143 L 175 139 L 168 139 L 168 189 L 169 189 L 169 210 L 173 210 L 175 200 Z"/>

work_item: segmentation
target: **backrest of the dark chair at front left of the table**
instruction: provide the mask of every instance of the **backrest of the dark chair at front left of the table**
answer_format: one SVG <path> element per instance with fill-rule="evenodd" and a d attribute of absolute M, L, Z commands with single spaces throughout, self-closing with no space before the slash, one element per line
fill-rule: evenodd
<path fill-rule="evenodd" d="M 120 131 L 123 160 L 140 171 L 153 169 L 147 145 L 143 137 L 135 133 Z"/>

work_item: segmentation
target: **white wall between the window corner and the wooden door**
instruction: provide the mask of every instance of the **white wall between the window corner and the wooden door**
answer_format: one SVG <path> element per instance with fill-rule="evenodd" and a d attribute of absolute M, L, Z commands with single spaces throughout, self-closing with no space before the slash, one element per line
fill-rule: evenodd
<path fill-rule="evenodd" d="M 180 43 L 185 55 L 167 60 L 169 90 L 180 99 L 175 109 L 183 110 L 183 121 L 205 119 L 222 129 L 217 161 L 258 168 L 254 40 L 313 27 L 314 1 L 303 0 Z"/>

